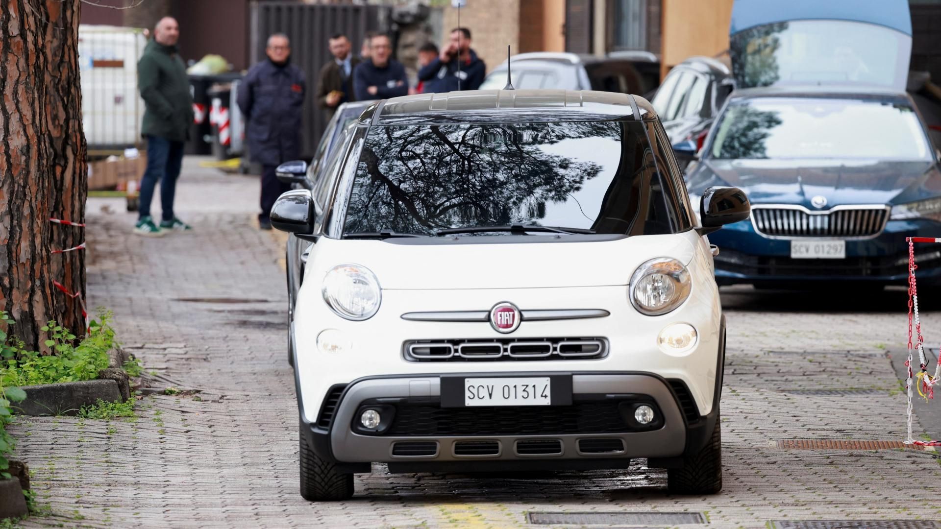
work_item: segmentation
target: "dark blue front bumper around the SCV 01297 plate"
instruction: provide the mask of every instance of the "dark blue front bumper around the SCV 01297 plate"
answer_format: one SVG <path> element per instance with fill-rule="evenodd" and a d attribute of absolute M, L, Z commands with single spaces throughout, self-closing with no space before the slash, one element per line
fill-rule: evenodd
<path fill-rule="evenodd" d="M 877 237 L 847 240 L 845 259 L 791 259 L 789 239 L 766 237 L 755 232 L 750 221 L 742 221 L 711 233 L 710 243 L 720 250 L 714 259 L 719 285 L 809 281 L 903 285 L 908 277 L 905 237 L 939 235 L 941 226 L 932 221 L 890 220 Z M 941 247 L 917 249 L 916 261 L 921 284 L 941 282 Z"/>

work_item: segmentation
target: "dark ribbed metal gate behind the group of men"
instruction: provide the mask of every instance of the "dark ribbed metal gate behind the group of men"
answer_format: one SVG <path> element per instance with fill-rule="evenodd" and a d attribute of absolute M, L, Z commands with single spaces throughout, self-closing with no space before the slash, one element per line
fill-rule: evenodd
<path fill-rule="evenodd" d="M 311 5 L 296 2 L 252 2 L 249 57 L 255 64 L 264 58 L 264 47 L 272 33 L 284 33 L 291 39 L 291 62 L 307 75 L 304 99 L 304 131 L 301 153 L 309 158 L 327 120 L 317 105 L 314 93 L 321 67 L 332 59 L 327 39 L 343 33 L 359 55 L 359 46 L 369 31 L 379 28 L 378 6 Z"/>

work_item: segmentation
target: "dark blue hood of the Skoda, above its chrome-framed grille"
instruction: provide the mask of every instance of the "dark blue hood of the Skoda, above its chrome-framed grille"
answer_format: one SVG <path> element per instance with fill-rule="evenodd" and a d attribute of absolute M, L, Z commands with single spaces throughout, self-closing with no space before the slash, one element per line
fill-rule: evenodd
<path fill-rule="evenodd" d="M 810 207 L 817 196 L 828 206 L 895 204 L 941 195 L 941 173 L 929 161 L 714 160 L 700 162 L 688 177 L 691 193 L 731 185 L 752 203 Z"/>

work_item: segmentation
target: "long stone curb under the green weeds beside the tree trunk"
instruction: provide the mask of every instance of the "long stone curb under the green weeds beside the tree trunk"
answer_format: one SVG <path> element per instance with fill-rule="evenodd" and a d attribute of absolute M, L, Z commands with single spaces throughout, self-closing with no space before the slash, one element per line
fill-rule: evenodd
<path fill-rule="evenodd" d="M 14 411 L 20 415 L 74 415 L 83 406 L 91 406 L 102 399 L 105 402 L 121 402 L 118 382 L 106 380 L 83 380 L 23 386 L 26 399 L 17 404 Z"/>

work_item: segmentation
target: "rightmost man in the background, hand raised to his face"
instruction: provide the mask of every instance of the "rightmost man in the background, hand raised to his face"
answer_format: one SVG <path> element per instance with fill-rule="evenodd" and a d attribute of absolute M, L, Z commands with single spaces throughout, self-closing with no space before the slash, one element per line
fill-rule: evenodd
<path fill-rule="evenodd" d="M 455 27 L 441 55 L 418 71 L 426 93 L 476 90 L 485 76 L 486 64 L 470 49 L 470 29 L 466 27 Z"/>

